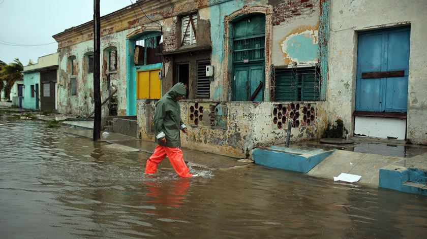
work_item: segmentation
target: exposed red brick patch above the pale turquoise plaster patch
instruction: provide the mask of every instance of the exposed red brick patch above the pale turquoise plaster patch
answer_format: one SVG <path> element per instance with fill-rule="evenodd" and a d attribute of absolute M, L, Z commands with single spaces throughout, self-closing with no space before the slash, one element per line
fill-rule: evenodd
<path fill-rule="evenodd" d="M 317 11 L 319 0 L 288 0 L 273 7 L 273 25 L 286 22 L 286 19 Z"/>

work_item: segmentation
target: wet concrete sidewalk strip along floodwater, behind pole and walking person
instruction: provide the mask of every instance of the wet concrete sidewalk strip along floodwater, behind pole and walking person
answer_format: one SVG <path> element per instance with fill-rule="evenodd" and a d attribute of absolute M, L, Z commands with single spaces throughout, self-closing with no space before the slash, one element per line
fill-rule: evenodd
<path fill-rule="evenodd" d="M 68 124 L 70 125 L 70 124 Z M 65 128 L 64 132 L 82 136 L 88 139 L 93 139 L 94 131 L 92 129 L 82 128 Z M 129 151 L 143 151 L 153 153 L 157 144 L 154 142 L 147 142 L 138 140 L 132 136 L 123 135 L 119 133 L 109 133 L 108 135 L 101 135 L 101 141 L 118 145 L 121 149 Z M 196 166 L 210 170 L 227 169 L 233 167 L 240 167 L 252 164 L 252 160 L 232 158 L 212 153 L 206 153 L 197 150 L 181 149 L 184 153 L 184 159 L 189 166 Z"/>

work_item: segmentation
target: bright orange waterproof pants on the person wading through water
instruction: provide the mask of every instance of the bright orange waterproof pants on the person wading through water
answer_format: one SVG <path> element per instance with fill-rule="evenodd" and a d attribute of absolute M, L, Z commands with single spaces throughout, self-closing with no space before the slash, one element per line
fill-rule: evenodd
<path fill-rule="evenodd" d="M 175 169 L 176 173 L 181 178 L 190 178 L 193 177 L 192 174 L 189 174 L 189 169 L 184 162 L 184 155 L 182 154 L 181 149 L 178 147 L 171 148 L 166 146 L 157 145 L 154 150 L 153 155 L 147 160 L 147 165 L 145 166 L 145 174 L 154 174 L 157 172 L 157 164 L 159 164 L 165 157 L 168 156 L 172 167 Z"/>

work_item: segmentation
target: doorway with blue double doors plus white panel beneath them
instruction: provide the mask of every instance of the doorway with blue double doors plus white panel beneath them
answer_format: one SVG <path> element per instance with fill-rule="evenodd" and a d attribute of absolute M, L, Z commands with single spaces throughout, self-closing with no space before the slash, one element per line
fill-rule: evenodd
<path fill-rule="evenodd" d="M 357 47 L 355 135 L 404 140 L 410 28 L 361 32 Z"/>

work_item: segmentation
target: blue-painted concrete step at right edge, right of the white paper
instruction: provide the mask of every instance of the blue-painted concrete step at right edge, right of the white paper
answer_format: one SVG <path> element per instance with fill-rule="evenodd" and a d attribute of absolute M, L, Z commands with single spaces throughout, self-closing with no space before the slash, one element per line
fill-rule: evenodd
<path fill-rule="evenodd" d="M 380 169 L 379 187 L 427 196 L 427 172 L 419 168 L 388 165 Z"/>

